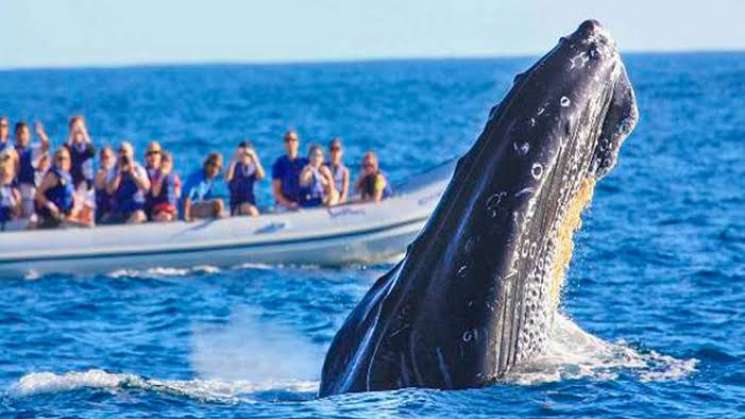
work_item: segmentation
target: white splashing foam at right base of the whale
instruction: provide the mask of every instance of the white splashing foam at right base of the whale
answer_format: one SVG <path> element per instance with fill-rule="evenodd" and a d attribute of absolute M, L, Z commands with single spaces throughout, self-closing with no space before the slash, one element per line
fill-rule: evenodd
<path fill-rule="evenodd" d="M 615 380 L 620 372 L 635 374 L 641 381 L 665 381 L 685 377 L 696 370 L 696 359 L 677 359 L 654 351 L 640 353 L 624 342 L 609 343 L 557 315 L 548 335 L 545 352 L 506 377 L 513 384 L 534 385 L 590 378 Z"/>

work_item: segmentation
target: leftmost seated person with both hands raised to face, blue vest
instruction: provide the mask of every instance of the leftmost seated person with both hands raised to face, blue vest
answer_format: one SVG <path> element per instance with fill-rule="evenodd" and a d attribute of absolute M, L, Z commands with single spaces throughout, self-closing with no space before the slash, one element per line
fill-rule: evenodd
<path fill-rule="evenodd" d="M 134 159 L 132 144 L 124 141 L 119 146 L 119 159 L 109 172 L 106 192 L 113 197 L 112 217 L 105 222 L 128 224 L 144 223 L 145 194 L 150 190 L 147 171 Z"/>

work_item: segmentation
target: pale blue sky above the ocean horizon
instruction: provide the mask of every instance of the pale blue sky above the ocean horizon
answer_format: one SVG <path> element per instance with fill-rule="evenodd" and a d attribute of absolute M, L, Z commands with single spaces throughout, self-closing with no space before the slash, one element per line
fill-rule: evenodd
<path fill-rule="evenodd" d="M 626 51 L 745 49 L 745 1 L 0 0 L 0 67 L 525 55 L 599 19 Z"/>

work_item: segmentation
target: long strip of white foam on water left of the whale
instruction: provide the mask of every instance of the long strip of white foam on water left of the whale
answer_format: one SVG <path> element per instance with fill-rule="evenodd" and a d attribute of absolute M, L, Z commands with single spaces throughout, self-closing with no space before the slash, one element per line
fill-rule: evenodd
<path fill-rule="evenodd" d="M 123 389 L 140 389 L 158 393 L 175 394 L 203 401 L 250 402 L 252 393 L 264 391 L 289 391 L 315 393 L 317 381 L 249 381 L 220 380 L 158 380 L 134 374 L 107 372 L 100 369 L 71 371 L 63 374 L 35 372 L 24 375 L 13 387 L 17 396 L 32 396 L 43 393 L 74 391 L 83 388 L 102 389 L 112 392 Z"/>

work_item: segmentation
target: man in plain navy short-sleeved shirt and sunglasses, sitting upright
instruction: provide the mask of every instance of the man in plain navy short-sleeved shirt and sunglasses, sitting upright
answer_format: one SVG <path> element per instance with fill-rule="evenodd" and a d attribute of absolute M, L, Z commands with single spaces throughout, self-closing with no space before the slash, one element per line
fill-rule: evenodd
<path fill-rule="evenodd" d="M 295 210 L 300 201 L 300 172 L 308 159 L 298 156 L 300 139 L 297 132 L 285 133 L 285 152 L 272 166 L 272 193 L 279 210 Z"/>

